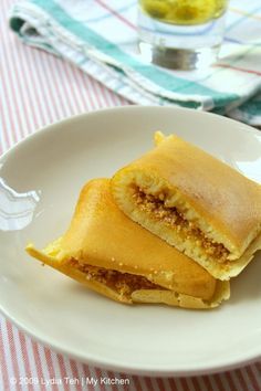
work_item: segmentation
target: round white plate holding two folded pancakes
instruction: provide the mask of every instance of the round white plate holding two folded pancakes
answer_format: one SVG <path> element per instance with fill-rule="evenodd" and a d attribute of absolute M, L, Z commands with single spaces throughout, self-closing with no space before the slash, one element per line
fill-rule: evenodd
<path fill-rule="evenodd" d="M 250 362 L 261 353 L 260 256 L 232 282 L 228 303 L 199 311 L 111 302 L 24 252 L 62 234 L 82 186 L 152 148 L 156 129 L 261 180 L 260 133 L 221 116 L 122 107 L 49 126 L 0 160 L 0 309 L 43 344 L 107 369 L 181 376 Z"/>

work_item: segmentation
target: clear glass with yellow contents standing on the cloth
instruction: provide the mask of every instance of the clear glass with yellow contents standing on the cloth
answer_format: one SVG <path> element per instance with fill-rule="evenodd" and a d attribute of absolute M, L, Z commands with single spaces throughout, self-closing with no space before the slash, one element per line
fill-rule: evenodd
<path fill-rule="evenodd" d="M 227 0 L 139 0 L 139 50 L 169 68 L 194 70 L 217 60 Z"/>

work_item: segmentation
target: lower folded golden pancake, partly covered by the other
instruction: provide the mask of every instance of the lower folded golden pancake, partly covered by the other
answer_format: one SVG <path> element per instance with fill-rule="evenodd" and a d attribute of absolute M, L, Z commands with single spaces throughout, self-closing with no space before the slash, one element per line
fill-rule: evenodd
<path fill-rule="evenodd" d="M 115 204 L 109 180 L 82 190 L 67 232 L 30 255 L 93 290 L 122 303 L 211 308 L 229 298 L 229 283 L 128 219 Z"/>

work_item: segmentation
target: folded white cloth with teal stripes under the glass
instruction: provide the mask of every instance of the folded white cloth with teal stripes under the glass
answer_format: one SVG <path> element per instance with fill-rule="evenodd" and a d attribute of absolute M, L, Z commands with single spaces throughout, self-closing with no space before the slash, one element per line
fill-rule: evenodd
<path fill-rule="evenodd" d="M 73 62 L 142 105 L 212 110 L 261 126 L 261 4 L 230 2 L 220 60 L 202 72 L 167 71 L 137 53 L 133 0 L 24 0 L 10 27 L 27 44 Z"/>

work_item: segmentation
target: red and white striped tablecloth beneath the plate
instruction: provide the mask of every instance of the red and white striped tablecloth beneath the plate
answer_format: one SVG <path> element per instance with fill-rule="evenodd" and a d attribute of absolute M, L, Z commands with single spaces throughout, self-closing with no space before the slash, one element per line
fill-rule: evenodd
<path fill-rule="evenodd" d="M 0 6 L 0 154 L 43 125 L 128 104 L 74 66 L 21 44 L 7 23 L 12 3 L 1 0 Z M 107 385 L 109 379 L 124 384 Z M 260 391 L 261 362 L 182 379 L 114 373 L 52 351 L 0 315 L 0 390 Z"/>

